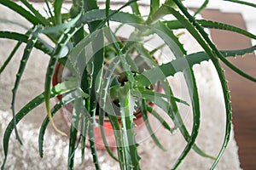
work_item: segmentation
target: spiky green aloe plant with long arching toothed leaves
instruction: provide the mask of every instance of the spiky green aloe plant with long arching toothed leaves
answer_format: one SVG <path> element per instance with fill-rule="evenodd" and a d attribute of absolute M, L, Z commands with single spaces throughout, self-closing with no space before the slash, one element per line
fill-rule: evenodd
<path fill-rule="evenodd" d="M 256 8 L 253 3 L 238 0 L 227 1 L 239 3 L 241 6 L 246 5 Z M 137 0 L 128 1 L 115 10 L 112 9 L 110 0 L 106 0 L 106 3 L 104 3 L 105 8 L 101 9 L 95 0 L 73 0 L 72 7 L 68 13 L 61 13 L 63 0 L 45 0 L 48 16 L 40 14 L 38 9 L 34 8 L 32 3 L 26 0 L 20 0 L 22 6 L 20 6 L 20 3 L 10 0 L 0 0 L 0 3 L 32 23 L 32 27 L 23 34 L 8 30 L 0 31 L 1 38 L 17 42 L 15 48 L 10 49 L 9 57 L 1 65 L 0 74 L 15 56 L 20 44 L 26 44 L 13 89 L 11 103 L 13 119 L 9 122 L 3 137 L 5 157 L 2 169 L 4 169 L 5 162 L 8 161 L 10 134 L 15 130 L 16 138 L 22 144 L 16 125 L 32 109 L 42 103 L 45 104 L 45 112 L 47 113 L 38 135 L 39 154 L 42 157 L 44 133 L 49 122 L 55 128 L 56 133 L 67 135 L 55 126 L 52 116 L 61 107 L 73 103 L 70 135 L 67 137 L 70 141 L 68 169 L 73 169 L 73 158 L 79 151 L 77 149 L 79 144 L 81 144 L 81 153 L 82 157 L 84 157 L 86 140 L 90 141 L 90 151 L 96 169 L 101 169 L 97 157 L 94 133 L 94 127 L 98 125 L 101 126 L 102 139 L 106 150 L 119 163 L 120 169 L 140 169 L 140 156 L 137 152 L 139 144 L 134 130 L 134 112 L 137 110 L 140 110 L 143 114 L 148 133 L 150 133 L 154 143 L 161 150 L 166 150 L 166 148 L 161 144 L 160 139 L 154 135 L 154 131 L 148 122 L 148 113 L 154 116 L 170 134 L 173 133 L 173 130 L 179 129 L 183 138 L 187 141 L 181 156 L 179 156 L 173 167 L 170 165 L 170 168 L 176 169 L 191 149 L 201 156 L 213 159 L 214 163 L 211 169 L 216 167 L 229 142 L 232 120 L 230 94 L 220 60 L 241 77 L 256 82 L 255 77 L 247 75 L 247 73 L 241 71 L 226 59 L 227 57 L 253 53 L 256 47 L 229 51 L 218 50 L 204 29 L 213 28 L 234 31 L 252 39 L 256 39 L 255 35 L 225 23 L 197 20 L 194 15 L 189 13 L 188 8 L 183 5 L 181 0 L 166 0 L 165 3 L 160 3 L 159 0 L 151 0 L 146 16 L 141 14 L 141 7 Z M 201 5 L 195 15 L 200 14 L 201 10 L 206 8 L 207 3 L 208 0 Z M 131 12 L 124 12 L 124 8 L 131 8 Z M 173 20 L 164 19 L 166 15 L 170 14 L 173 16 Z M 113 23 L 119 23 L 119 26 L 113 26 Z M 131 26 L 133 31 L 131 34 L 127 33 L 128 36 L 125 40 L 120 40 L 117 32 L 124 26 Z M 183 44 L 174 33 L 178 29 L 189 31 L 201 45 L 203 51 L 187 54 Z M 40 38 L 42 35 L 48 37 L 49 41 L 43 41 Z M 145 44 L 152 36 L 160 37 L 164 43 L 149 50 Z M 52 46 L 50 44 L 55 45 Z M 172 59 L 172 61 L 165 64 L 159 64 L 153 56 L 156 51 L 161 50 L 163 47 L 169 48 L 176 59 Z M 16 92 L 33 48 L 38 48 L 49 55 L 49 65 L 44 81 L 44 93 L 38 94 L 36 98 L 24 105 L 20 111 L 15 111 Z M 141 56 L 140 60 L 142 61 L 141 63 L 144 63 L 143 65 L 146 63 L 147 67 L 143 68 L 143 70 L 140 69 L 140 60 L 136 60 L 136 56 Z M 200 127 L 201 111 L 192 67 L 210 59 L 218 72 L 226 108 L 226 116 L 220 117 L 221 119 L 226 119 L 226 130 L 223 145 L 217 157 L 208 155 L 195 144 Z M 51 87 L 57 62 L 65 65 L 67 70 L 72 73 L 72 77 L 67 77 L 67 80 L 55 85 L 55 87 Z M 172 77 L 177 72 L 183 72 L 189 90 L 189 102 L 177 99 L 172 93 L 172 86 L 166 81 L 167 77 Z M 119 77 L 125 77 L 125 81 L 119 81 Z M 155 86 L 160 86 L 163 89 L 162 92 L 155 90 Z M 49 99 L 59 94 L 65 95 L 53 108 L 50 108 Z M 113 101 L 117 102 L 119 111 L 114 110 Z M 159 106 L 172 119 L 174 127 L 168 124 L 157 111 L 154 111 L 154 108 L 150 105 L 152 103 Z M 178 103 L 183 105 L 191 103 L 190 107 L 193 111 L 193 129 L 191 133 L 188 132 L 183 123 L 177 107 Z M 114 150 L 110 149 L 104 133 L 104 119 L 107 116 L 114 130 L 117 156 L 113 153 Z M 78 140 L 79 129 L 80 137 Z"/>

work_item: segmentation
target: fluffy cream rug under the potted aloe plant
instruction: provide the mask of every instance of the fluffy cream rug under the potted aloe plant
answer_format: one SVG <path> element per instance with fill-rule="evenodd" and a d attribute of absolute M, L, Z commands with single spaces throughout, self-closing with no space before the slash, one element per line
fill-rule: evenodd
<path fill-rule="evenodd" d="M 26 22 L 22 22 L 22 19 L 17 15 L 10 13 L 2 6 L 0 7 L 0 11 L 0 19 L 10 19 L 26 24 Z M 1 20 L 0 23 L 1 30 L 6 30 L 11 27 L 15 31 L 22 32 L 20 26 L 3 25 L 3 20 Z M 187 48 L 189 52 L 200 50 L 198 45 L 193 42 L 193 39 L 187 36 L 181 38 L 186 44 L 185 48 Z M 9 54 L 9 50 L 7 49 L 12 48 L 15 43 L 2 39 L 0 40 L 0 44 L 0 65 L 2 65 L 3 60 Z M 10 120 L 11 116 L 9 113 L 11 89 L 15 82 L 15 73 L 17 71 L 17 65 L 20 63 L 20 54 L 22 53 L 22 50 L 20 50 L 15 59 L 13 59 L 7 67 L 7 70 L 4 71 L 4 74 L 0 77 L 0 110 L 2 110 L 0 112 L 0 161 L 2 161 L 3 158 L 3 131 L 7 125 L 6 120 Z M 29 99 L 32 99 L 42 92 L 47 61 L 47 56 L 38 53 L 36 50 L 33 51 L 32 57 L 27 63 L 25 75 L 20 82 L 16 111 L 20 109 L 21 105 L 26 104 Z M 217 156 L 224 138 L 225 116 L 223 96 L 220 93 L 218 77 L 214 69 L 212 69 L 211 63 L 203 62 L 201 65 L 196 65 L 195 70 L 201 99 L 201 129 L 196 143 L 202 150 L 205 150 L 212 156 Z M 172 78 L 171 81 L 174 88 L 177 89 L 177 96 L 186 99 L 186 90 L 182 88 L 183 80 L 176 77 L 174 79 Z M 15 141 L 15 136 L 12 136 L 7 169 L 65 169 L 65 167 L 67 167 L 68 139 L 61 138 L 58 134 L 55 134 L 50 127 L 44 138 L 44 158 L 41 159 L 38 156 L 38 128 L 45 115 L 44 105 L 42 105 L 37 110 L 32 111 L 29 116 L 26 116 L 25 120 L 20 122 L 18 127 L 24 144 L 20 146 L 17 141 Z M 191 112 L 186 107 L 183 108 L 183 117 L 186 120 L 186 125 L 190 129 Z M 58 126 L 61 126 L 62 123 L 63 122 L 59 121 Z M 166 146 L 167 151 L 164 152 L 157 148 L 151 139 L 144 139 L 138 148 L 142 156 L 142 169 L 170 169 L 185 147 L 186 143 L 178 132 L 170 135 L 162 128 L 158 128 L 156 135 L 160 138 L 161 143 Z M 111 160 L 104 151 L 99 151 L 99 155 L 102 169 L 119 169 L 118 164 Z M 79 152 L 77 156 L 76 169 L 83 169 L 84 167 L 86 169 L 93 169 L 89 150 L 87 150 L 83 165 L 80 165 Z M 198 156 L 191 150 L 189 156 L 184 159 L 180 169 L 209 169 L 211 164 L 212 160 Z M 218 164 L 217 169 L 236 170 L 240 169 L 239 164 L 236 141 L 232 133 L 228 149 L 224 153 L 224 157 Z"/>

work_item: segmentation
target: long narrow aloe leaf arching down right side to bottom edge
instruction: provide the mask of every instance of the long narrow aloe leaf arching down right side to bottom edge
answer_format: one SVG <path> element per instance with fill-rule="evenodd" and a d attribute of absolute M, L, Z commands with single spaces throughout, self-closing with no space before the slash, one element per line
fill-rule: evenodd
<path fill-rule="evenodd" d="M 211 169 L 216 167 L 218 164 L 218 161 L 220 160 L 221 156 L 223 156 L 224 150 L 227 147 L 227 144 L 230 139 L 230 131 L 231 131 L 231 120 L 232 120 L 232 113 L 231 113 L 231 105 L 230 105 L 230 93 L 228 90 L 227 82 L 224 77 L 224 71 L 222 66 L 219 64 L 218 59 L 222 59 L 225 63 L 224 56 L 218 51 L 218 48 L 215 47 L 215 45 L 212 43 L 210 38 L 207 36 L 207 33 L 203 30 L 203 28 L 196 22 L 195 18 L 191 16 L 187 10 L 183 6 L 183 3 L 180 0 L 173 0 L 176 4 L 177 7 L 183 12 L 183 14 L 187 17 L 187 21 L 183 20 L 183 17 L 179 15 L 177 12 L 172 10 L 172 14 L 176 15 L 178 20 L 183 20 L 183 25 L 189 26 L 193 24 L 192 30 L 189 30 L 189 32 L 195 37 L 195 39 L 201 44 L 201 47 L 205 49 L 207 54 L 209 54 L 210 58 L 212 59 L 212 63 L 215 66 L 217 72 L 218 72 L 218 77 L 221 82 L 221 86 L 223 88 L 223 94 L 224 94 L 224 104 L 225 104 L 225 109 L 226 109 L 226 130 L 225 130 L 225 135 L 224 135 L 224 142 L 221 147 L 221 150 L 219 151 L 218 157 L 216 160 L 213 162 Z M 194 27 L 195 26 L 195 27 Z M 198 33 L 196 32 L 199 32 Z M 226 64 L 226 63 L 225 63 Z"/>

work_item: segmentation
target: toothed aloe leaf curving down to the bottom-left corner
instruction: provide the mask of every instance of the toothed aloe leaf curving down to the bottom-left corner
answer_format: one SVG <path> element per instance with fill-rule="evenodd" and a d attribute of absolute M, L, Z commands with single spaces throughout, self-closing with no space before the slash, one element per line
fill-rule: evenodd
<path fill-rule="evenodd" d="M 62 82 L 55 87 L 50 89 L 50 98 L 53 98 L 60 94 L 65 94 L 73 89 L 76 88 L 76 84 L 73 83 L 73 80 L 69 80 L 67 82 Z M 15 126 L 14 122 L 18 124 L 20 120 L 24 116 L 26 116 L 30 111 L 32 111 L 34 108 L 36 108 L 38 105 L 42 104 L 44 102 L 45 94 L 39 94 L 34 99 L 30 100 L 26 105 L 24 105 L 20 111 L 16 114 L 16 116 L 9 122 L 9 125 L 6 127 L 6 130 L 3 134 L 3 151 L 4 151 L 4 160 L 1 169 L 4 169 L 5 162 L 7 161 L 7 155 L 9 150 L 9 138 L 11 133 L 13 132 Z M 15 119 L 15 120 L 14 120 Z"/>

